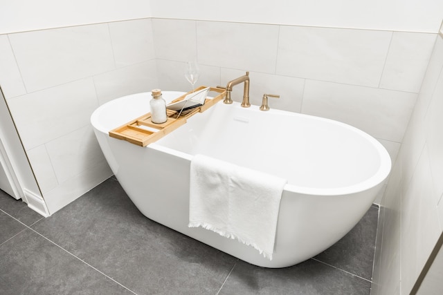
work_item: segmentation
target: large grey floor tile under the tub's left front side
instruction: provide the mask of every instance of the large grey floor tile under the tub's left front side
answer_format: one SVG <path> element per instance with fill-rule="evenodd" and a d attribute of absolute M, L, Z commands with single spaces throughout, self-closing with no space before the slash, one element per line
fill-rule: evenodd
<path fill-rule="evenodd" d="M 216 294 L 237 260 L 145 218 L 114 179 L 33 229 L 137 294 Z"/>

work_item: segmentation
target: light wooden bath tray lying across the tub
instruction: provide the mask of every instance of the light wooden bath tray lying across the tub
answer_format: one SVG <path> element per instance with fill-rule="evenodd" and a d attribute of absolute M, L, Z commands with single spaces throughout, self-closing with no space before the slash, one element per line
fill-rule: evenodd
<path fill-rule="evenodd" d="M 206 88 L 206 86 L 200 86 L 199 88 L 196 88 L 195 91 L 199 91 L 204 88 Z M 157 140 L 161 139 L 161 137 L 171 133 L 175 129 L 179 128 L 179 126 L 185 124 L 189 117 L 192 117 L 196 113 L 203 113 L 221 99 L 224 99 L 226 95 L 226 90 L 221 88 L 210 87 L 209 91 L 216 92 L 218 95 L 212 99 L 206 98 L 203 106 L 191 108 L 187 111 L 181 112 L 181 114 L 176 111 L 166 110 L 168 120 L 162 124 L 152 123 L 151 113 L 146 113 L 145 115 L 138 117 L 131 122 L 127 122 L 126 124 L 109 131 L 109 136 L 117 138 L 118 140 L 126 140 L 127 142 L 131 142 L 132 144 L 136 144 L 138 146 L 147 146 L 152 142 L 156 142 Z M 174 99 L 171 103 L 183 100 L 186 95 L 190 93 L 192 92 L 190 91 L 184 95 L 181 95 L 181 97 Z M 178 117 L 178 115 L 180 116 Z"/>

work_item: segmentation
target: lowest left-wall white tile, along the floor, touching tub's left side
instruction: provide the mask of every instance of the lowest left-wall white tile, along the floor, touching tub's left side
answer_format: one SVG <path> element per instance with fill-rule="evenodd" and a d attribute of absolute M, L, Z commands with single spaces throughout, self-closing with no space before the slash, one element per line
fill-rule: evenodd
<path fill-rule="evenodd" d="M 91 169 L 61 183 L 55 189 L 44 194 L 44 200 L 48 205 L 49 213 L 53 214 L 62 209 L 70 202 L 73 202 L 73 200 L 107 180 L 111 175 L 112 171 L 109 169 L 107 162 L 100 162 Z"/>

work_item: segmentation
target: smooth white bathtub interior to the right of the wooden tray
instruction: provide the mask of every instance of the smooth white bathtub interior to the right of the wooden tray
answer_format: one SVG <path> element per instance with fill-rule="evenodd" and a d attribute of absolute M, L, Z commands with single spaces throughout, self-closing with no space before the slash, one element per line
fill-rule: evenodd
<path fill-rule="evenodd" d="M 217 104 L 156 142 L 286 178 L 296 187 L 343 189 L 368 182 L 380 169 L 373 138 L 332 120 L 257 106 Z M 341 191 L 340 193 L 343 193 Z"/>

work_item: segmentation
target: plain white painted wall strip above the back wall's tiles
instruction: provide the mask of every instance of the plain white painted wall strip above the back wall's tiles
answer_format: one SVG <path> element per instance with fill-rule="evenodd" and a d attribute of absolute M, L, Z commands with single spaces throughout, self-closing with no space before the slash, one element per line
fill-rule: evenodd
<path fill-rule="evenodd" d="M 438 32 L 440 0 L 151 0 L 154 17 L 296 26 Z"/>

